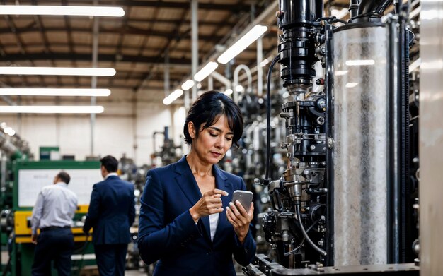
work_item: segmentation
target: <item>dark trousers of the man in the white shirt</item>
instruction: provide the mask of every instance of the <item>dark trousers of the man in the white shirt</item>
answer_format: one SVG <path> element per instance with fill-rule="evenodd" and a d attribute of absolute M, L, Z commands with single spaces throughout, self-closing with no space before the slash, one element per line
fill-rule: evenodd
<path fill-rule="evenodd" d="M 34 250 L 33 276 L 51 275 L 51 261 L 58 275 L 71 275 L 71 255 L 74 251 L 74 235 L 71 229 L 42 231 Z"/>

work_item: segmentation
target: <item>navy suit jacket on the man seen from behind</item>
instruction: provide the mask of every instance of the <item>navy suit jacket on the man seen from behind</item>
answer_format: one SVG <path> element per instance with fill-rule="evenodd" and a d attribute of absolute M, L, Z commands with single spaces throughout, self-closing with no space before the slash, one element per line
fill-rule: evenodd
<path fill-rule="evenodd" d="M 94 184 L 84 232 L 93 228 L 93 244 L 128 244 L 134 223 L 134 185 L 118 176 Z"/>

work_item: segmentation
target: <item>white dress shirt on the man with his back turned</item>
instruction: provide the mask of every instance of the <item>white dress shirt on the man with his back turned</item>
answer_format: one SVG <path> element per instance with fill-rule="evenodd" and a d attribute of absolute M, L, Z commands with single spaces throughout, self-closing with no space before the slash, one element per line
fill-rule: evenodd
<path fill-rule="evenodd" d="M 37 234 L 38 228 L 72 226 L 76 209 L 77 196 L 66 183 L 58 182 L 43 187 L 31 217 L 33 234 Z"/>

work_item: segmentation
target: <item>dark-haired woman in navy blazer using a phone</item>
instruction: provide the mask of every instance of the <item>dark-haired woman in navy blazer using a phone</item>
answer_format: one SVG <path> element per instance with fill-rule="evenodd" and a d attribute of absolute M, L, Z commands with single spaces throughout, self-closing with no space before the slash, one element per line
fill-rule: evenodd
<path fill-rule="evenodd" d="M 145 263 L 159 260 L 154 275 L 236 275 L 233 255 L 243 266 L 253 260 L 253 204 L 245 210 L 231 203 L 246 186 L 216 166 L 242 132 L 238 106 L 223 93 L 205 92 L 185 121 L 189 154 L 148 172 L 138 243 Z"/>

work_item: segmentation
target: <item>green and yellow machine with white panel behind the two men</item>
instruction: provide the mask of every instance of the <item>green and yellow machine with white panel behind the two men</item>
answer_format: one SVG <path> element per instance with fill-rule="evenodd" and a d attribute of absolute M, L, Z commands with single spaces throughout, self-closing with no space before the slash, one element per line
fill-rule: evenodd
<path fill-rule="evenodd" d="M 91 241 L 91 236 L 86 241 L 86 236 L 81 229 L 83 226 L 81 220 L 88 212 L 93 184 L 103 180 L 100 174 L 100 162 L 13 160 L 11 169 L 13 174 L 11 209 L 2 211 L 2 214 L 6 213 L 4 222 L 7 225 L 3 228 L 8 229 L 5 234 L 8 235 L 10 258 L 4 271 L 8 270 L 9 275 L 13 276 L 31 275 L 35 247 L 30 239 L 30 217 L 33 205 L 41 188 L 51 185 L 54 176 L 61 170 L 71 176 L 68 187 L 79 198 L 79 207 L 72 228 L 76 249 L 72 256 L 71 275 L 79 275 L 84 265 L 95 265 L 93 246 L 88 242 Z M 3 206 L 6 207 L 6 205 Z"/>

